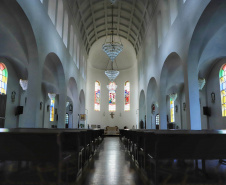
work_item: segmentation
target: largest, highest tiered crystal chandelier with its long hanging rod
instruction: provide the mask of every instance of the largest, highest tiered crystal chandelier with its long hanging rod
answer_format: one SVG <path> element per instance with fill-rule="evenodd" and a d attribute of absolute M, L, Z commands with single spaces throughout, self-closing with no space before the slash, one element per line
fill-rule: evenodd
<path fill-rule="evenodd" d="M 111 31 L 111 38 L 109 38 L 110 40 L 107 41 L 107 37 L 105 40 L 105 43 L 102 46 L 103 51 L 107 54 L 107 56 L 111 59 L 111 61 L 113 62 L 115 60 L 115 58 L 119 55 L 119 53 L 121 53 L 121 51 L 123 50 L 123 45 L 121 43 L 120 37 L 119 37 L 119 41 L 116 42 L 114 41 L 113 38 L 113 4 L 115 3 L 115 0 L 111 0 L 111 6 L 112 6 L 112 31 Z"/>

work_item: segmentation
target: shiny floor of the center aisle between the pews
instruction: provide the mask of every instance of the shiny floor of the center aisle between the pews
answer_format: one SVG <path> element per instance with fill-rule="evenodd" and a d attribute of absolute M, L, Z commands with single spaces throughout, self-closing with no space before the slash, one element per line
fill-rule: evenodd
<path fill-rule="evenodd" d="M 105 137 L 82 185 L 143 185 L 118 137 Z"/>

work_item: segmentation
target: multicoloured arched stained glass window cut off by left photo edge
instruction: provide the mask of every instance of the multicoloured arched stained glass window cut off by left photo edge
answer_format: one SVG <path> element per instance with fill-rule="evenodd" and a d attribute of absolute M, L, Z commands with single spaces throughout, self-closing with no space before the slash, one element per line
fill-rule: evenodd
<path fill-rule="evenodd" d="M 3 63 L 0 63 L 0 94 L 6 94 L 8 71 Z"/>

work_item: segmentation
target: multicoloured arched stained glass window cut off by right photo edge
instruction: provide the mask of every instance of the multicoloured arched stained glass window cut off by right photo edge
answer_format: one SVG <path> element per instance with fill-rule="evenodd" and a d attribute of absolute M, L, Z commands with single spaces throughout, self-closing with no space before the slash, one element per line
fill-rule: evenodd
<path fill-rule="evenodd" d="M 226 116 L 226 64 L 220 69 L 220 92 L 222 117 Z"/>

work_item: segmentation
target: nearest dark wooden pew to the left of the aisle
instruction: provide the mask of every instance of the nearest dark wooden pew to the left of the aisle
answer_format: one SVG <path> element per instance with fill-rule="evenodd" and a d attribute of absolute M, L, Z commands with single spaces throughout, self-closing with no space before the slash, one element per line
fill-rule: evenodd
<path fill-rule="evenodd" d="M 0 147 L 1 161 L 51 163 L 56 172 L 53 181 L 55 184 L 62 183 L 62 167 L 70 158 L 70 155 L 63 155 L 62 152 L 62 133 L 1 129 Z M 26 183 L 26 179 L 23 181 Z"/>

